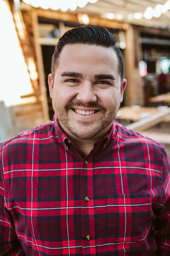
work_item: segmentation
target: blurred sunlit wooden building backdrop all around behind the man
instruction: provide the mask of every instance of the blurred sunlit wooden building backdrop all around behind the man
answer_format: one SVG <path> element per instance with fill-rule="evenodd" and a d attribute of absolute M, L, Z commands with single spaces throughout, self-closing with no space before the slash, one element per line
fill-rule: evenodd
<path fill-rule="evenodd" d="M 51 56 L 83 25 L 115 34 L 125 59 L 116 121 L 164 143 L 170 157 L 170 0 L 0 0 L 0 142 L 53 118 Z"/>

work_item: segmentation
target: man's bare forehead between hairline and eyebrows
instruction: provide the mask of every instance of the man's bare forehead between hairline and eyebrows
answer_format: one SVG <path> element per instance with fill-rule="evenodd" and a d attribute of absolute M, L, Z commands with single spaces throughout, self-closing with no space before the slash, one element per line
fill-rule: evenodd
<path fill-rule="evenodd" d="M 112 47 L 67 44 L 60 53 L 59 67 L 117 69 L 118 57 Z"/>

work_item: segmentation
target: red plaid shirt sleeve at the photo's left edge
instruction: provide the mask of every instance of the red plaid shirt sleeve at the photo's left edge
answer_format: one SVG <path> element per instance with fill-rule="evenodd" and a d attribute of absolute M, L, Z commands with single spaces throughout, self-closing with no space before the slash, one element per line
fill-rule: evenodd
<path fill-rule="evenodd" d="M 0 153 L 0 255 L 25 256 L 17 238 L 12 214 L 5 207 L 3 165 Z"/>

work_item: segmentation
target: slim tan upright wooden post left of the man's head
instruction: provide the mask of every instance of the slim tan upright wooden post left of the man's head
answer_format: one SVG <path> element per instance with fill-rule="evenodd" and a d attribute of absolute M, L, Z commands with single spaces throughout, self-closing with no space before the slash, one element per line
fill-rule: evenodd
<path fill-rule="evenodd" d="M 33 33 L 34 33 L 35 53 L 36 53 L 36 59 L 37 59 L 37 64 L 38 64 L 40 91 L 41 91 L 41 95 L 42 95 L 42 109 L 43 109 L 43 113 L 44 113 L 44 122 L 48 122 L 49 121 L 49 108 L 48 108 L 47 94 L 46 94 L 42 50 L 41 50 L 41 45 L 39 44 L 38 15 L 36 14 L 36 12 L 32 12 L 32 24 L 33 24 Z"/>

